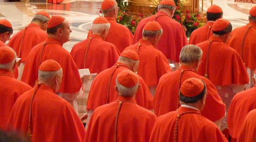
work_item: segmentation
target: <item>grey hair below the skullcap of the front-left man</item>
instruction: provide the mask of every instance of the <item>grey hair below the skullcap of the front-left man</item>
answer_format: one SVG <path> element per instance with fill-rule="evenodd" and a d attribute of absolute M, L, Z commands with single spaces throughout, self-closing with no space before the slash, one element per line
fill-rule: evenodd
<path fill-rule="evenodd" d="M 62 69 L 58 71 L 41 71 L 38 70 L 38 79 L 40 81 L 47 81 L 48 79 L 54 78 L 56 75 L 61 75 Z"/>

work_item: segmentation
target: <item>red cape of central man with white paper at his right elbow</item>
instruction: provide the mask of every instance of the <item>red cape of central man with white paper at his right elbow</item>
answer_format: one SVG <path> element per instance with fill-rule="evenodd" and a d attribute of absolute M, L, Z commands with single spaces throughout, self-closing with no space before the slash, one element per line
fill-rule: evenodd
<path fill-rule="evenodd" d="M 157 86 L 160 77 L 172 71 L 164 54 L 147 40 L 140 39 L 138 43 L 126 49 L 137 51 L 140 57 L 138 74 L 144 79 L 148 87 Z"/>

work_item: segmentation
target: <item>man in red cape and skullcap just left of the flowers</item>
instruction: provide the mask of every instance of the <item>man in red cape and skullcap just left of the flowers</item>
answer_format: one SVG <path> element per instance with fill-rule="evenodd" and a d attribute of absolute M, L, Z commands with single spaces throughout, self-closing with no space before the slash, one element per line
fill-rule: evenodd
<path fill-rule="evenodd" d="M 120 52 L 132 45 L 133 34 L 124 25 L 116 22 L 119 7 L 115 0 L 103 0 L 101 3 L 101 11 L 108 22 L 110 23 L 109 33 L 105 41 L 113 43 Z M 92 30 L 88 33 L 88 38 L 91 36 Z"/>

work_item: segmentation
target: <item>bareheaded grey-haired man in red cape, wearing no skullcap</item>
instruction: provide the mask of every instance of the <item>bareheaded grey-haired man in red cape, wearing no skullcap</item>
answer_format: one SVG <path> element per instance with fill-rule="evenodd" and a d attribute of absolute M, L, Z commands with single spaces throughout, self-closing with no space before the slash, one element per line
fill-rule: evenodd
<path fill-rule="evenodd" d="M 167 73 L 160 78 L 154 97 L 154 110 L 156 116 L 164 115 L 180 107 L 179 88 L 188 78 L 199 78 L 206 84 L 207 98 L 202 116 L 220 126 L 225 116 L 225 104 L 222 102 L 217 89 L 212 82 L 198 75 L 198 65 L 201 62 L 202 49 L 195 45 L 186 45 L 180 52 L 181 66 L 178 70 Z"/>

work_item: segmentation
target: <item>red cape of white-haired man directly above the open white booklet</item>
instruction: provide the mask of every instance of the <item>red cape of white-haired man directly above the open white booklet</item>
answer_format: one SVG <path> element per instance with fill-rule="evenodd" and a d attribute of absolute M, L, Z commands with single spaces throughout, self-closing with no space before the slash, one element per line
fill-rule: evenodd
<path fill-rule="evenodd" d="M 103 41 L 96 34 L 76 43 L 70 54 L 78 69 L 89 68 L 91 73 L 100 73 L 100 71 L 112 67 L 120 56 L 120 52 L 114 44 Z"/>

